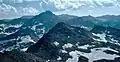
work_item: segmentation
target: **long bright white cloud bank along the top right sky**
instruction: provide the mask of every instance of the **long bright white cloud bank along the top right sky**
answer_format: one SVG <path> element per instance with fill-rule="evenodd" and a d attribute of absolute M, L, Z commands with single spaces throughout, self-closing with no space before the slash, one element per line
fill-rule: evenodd
<path fill-rule="evenodd" d="M 79 9 L 82 7 L 105 7 L 104 4 L 116 6 L 116 0 L 42 0 L 46 5 L 54 4 L 58 10 Z M 118 4 L 119 5 L 119 4 Z"/>

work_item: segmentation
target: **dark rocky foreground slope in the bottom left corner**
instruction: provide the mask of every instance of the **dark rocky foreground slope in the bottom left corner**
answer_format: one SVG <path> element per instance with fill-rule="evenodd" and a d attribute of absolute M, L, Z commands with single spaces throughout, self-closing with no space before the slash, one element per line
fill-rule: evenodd
<path fill-rule="evenodd" d="M 45 62 L 45 60 L 33 54 L 14 50 L 1 53 L 0 62 Z"/>

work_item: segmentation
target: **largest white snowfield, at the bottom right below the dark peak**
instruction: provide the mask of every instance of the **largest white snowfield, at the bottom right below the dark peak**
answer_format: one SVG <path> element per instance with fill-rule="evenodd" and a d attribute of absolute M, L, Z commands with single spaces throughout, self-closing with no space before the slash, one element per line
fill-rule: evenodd
<path fill-rule="evenodd" d="M 78 62 L 78 60 L 79 60 L 78 58 L 80 56 L 87 57 L 89 59 L 89 62 L 93 62 L 95 60 L 101 60 L 101 59 L 114 60 L 114 58 L 120 57 L 116 54 L 114 54 L 114 55 L 106 54 L 105 52 L 103 52 L 105 50 L 115 51 L 111 48 L 94 48 L 91 50 L 91 53 L 84 53 L 84 52 L 75 50 L 75 51 L 71 51 L 69 53 L 69 55 L 72 56 L 72 58 L 69 58 L 66 62 Z M 117 52 L 117 51 L 115 51 L 115 52 Z"/>

